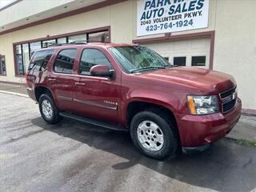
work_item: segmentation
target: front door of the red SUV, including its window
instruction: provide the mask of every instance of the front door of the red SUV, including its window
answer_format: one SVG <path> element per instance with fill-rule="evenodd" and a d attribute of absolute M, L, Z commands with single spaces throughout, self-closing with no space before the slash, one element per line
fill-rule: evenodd
<path fill-rule="evenodd" d="M 95 65 L 114 69 L 102 50 L 82 50 L 78 78 L 74 82 L 74 105 L 79 114 L 118 123 L 120 82 L 117 78 L 91 76 L 90 68 Z"/>

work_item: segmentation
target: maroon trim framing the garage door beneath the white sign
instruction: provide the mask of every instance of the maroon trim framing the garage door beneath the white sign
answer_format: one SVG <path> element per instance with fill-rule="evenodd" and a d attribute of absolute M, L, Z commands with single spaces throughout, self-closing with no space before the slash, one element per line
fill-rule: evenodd
<path fill-rule="evenodd" d="M 190 34 L 177 34 L 177 35 L 172 35 L 171 33 L 166 33 L 164 36 L 158 37 L 158 38 L 134 39 L 133 43 L 147 44 L 147 43 L 153 43 L 153 42 L 174 41 L 174 40 L 182 40 L 182 39 L 188 39 L 188 38 L 210 38 L 209 69 L 213 70 L 215 30 L 198 32 L 198 33 L 190 33 Z"/>

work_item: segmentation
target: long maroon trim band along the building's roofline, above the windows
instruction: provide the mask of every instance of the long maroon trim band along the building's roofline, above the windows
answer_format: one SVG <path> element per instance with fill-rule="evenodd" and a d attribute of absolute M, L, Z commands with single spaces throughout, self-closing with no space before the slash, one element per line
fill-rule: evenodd
<path fill-rule="evenodd" d="M 19 1 L 22 1 L 22 0 L 19 0 Z M 31 26 L 38 26 L 38 25 L 41 25 L 41 24 L 46 23 L 46 22 L 52 22 L 52 21 L 55 21 L 55 20 L 58 20 L 58 19 L 61 19 L 61 18 L 67 18 L 67 17 L 73 16 L 75 14 L 82 14 L 82 13 L 85 13 L 85 12 L 88 12 L 88 11 L 91 11 L 91 10 L 97 10 L 97 9 L 100 9 L 102 7 L 105 7 L 105 6 L 112 6 L 112 5 L 117 4 L 119 2 L 126 2 L 126 1 L 127 0 L 106 0 L 105 2 L 98 2 L 98 3 L 96 3 L 94 5 L 91 5 L 91 6 L 82 7 L 78 10 L 71 10 L 69 12 L 66 12 L 66 13 L 63 13 L 63 14 L 58 14 L 58 15 L 55 15 L 55 16 L 50 17 L 50 18 L 44 18 L 44 19 L 39 20 L 37 22 L 31 22 L 31 23 L 28 23 L 28 24 L 23 25 L 23 26 L 17 26 L 17 27 L 14 27 L 13 29 L 2 31 L 2 32 L 0 32 L 0 35 L 8 34 L 10 32 L 14 32 L 16 30 L 26 29 L 26 28 L 31 27 Z"/>

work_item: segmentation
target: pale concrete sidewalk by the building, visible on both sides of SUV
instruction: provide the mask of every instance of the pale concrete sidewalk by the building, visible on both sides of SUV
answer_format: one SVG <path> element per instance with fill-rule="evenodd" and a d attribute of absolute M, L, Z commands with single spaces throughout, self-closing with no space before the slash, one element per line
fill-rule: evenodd
<path fill-rule="evenodd" d="M 14 94 L 27 94 L 26 86 L 14 86 L 0 83 L 0 91 L 1 90 L 12 92 Z M 230 134 L 226 135 L 226 138 L 246 139 L 256 142 L 256 116 L 242 114 L 238 124 Z"/>

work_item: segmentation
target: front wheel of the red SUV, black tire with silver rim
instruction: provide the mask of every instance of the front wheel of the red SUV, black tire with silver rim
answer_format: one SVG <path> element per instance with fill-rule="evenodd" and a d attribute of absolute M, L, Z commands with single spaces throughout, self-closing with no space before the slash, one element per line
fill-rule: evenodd
<path fill-rule="evenodd" d="M 164 115 L 159 114 L 151 110 L 136 114 L 130 123 L 131 139 L 138 150 L 150 158 L 158 160 L 164 160 L 170 156 L 174 158 L 178 154 L 179 146 L 178 135 L 175 134 L 173 127 L 174 123 L 171 123 L 169 119 L 167 121 Z M 149 130 L 150 132 L 147 132 Z"/>

